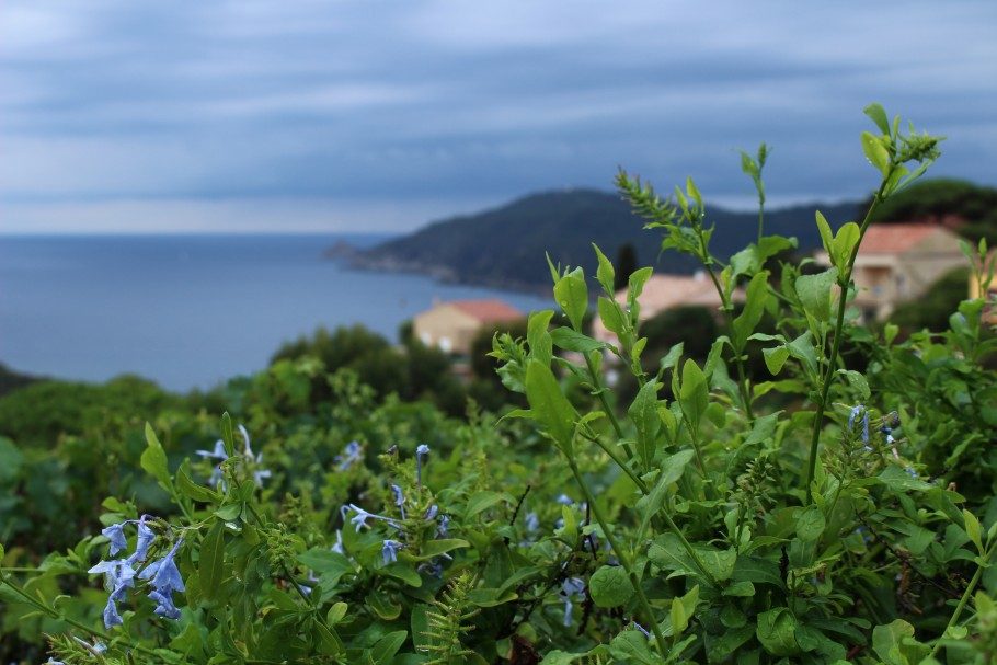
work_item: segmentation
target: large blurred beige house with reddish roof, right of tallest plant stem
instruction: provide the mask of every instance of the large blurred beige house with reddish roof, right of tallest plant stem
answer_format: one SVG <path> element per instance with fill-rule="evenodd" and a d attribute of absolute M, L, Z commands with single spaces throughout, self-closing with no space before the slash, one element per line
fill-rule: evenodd
<path fill-rule="evenodd" d="M 824 266 L 827 252 L 814 253 Z M 880 223 L 866 231 L 851 278 L 855 305 L 867 321 L 887 318 L 901 302 L 914 300 L 948 272 L 965 265 L 959 236 L 931 223 Z"/>

